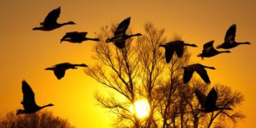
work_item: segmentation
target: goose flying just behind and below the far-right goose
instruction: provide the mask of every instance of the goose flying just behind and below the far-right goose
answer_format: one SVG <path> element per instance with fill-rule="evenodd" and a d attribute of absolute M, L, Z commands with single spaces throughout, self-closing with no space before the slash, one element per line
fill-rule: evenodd
<path fill-rule="evenodd" d="M 203 59 L 204 57 L 206 58 L 210 58 L 213 57 L 215 55 L 218 55 L 219 53 L 231 53 L 229 50 L 227 51 L 217 51 L 214 47 L 213 47 L 213 42 L 207 42 L 204 44 L 202 53 L 198 54 L 197 57 L 201 57 L 201 59 Z"/>

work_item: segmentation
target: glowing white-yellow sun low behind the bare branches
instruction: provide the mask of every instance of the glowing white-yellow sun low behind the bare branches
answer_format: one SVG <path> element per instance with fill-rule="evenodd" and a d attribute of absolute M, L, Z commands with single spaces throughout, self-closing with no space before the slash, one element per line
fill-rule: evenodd
<path fill-rule="evenodd" d="M 149 107 L 149 104 L 146 100 L 137 100 L 135 103 L 134 103 L 134 106 L 135 106 L 135 109 L 136 109 L 136 115 L 138 118 L 144 118 L 146 116 L 148 116 L 149 112 L 150 112 L 150 107 Z M 131 105 L 130 107 L 130 111 L 131 113 L 134 113 L 134 110 L 133 110 L 133 106 Z"/>

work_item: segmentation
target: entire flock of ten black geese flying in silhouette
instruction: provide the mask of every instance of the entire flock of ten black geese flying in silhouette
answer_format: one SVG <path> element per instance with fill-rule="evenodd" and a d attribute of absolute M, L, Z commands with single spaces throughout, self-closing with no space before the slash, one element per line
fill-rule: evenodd
<path fill-rule="evenodd" d="M 69 21 L 66 23 L 58 23 L 57 19 L 59 18 L 61 14 L 61 7 L 55 8 L 49 14 L 45 17 L 44 22 L 40 23 L 39 27 L 35 27 L 32 30 L 34 31 L 53 31 L 57 28 L 60 28 L 64 25 L 75 25 L 73 21 Z M 113 42 L 113 44 L 118 47 L 119 49 L 122 49 L 125 47 L 125 40 L 131 38 L 132 36 L 142 36 L 142 34 L 137 33 L 134 35 L 127 35 L 126 30 L 128 29 L 128 26 L 130 25 L 131 17 L 124 19 L 122 22 L 119 23 L 118 27 L 113 32 L 113 37 L 108 38 L 105 42 Z M 89 38 L 86 37 L 87 32 L 79 32 L 79 31 L 72 31 L 67 32 L 65 36 L 61 38 L 61 42 L 73 42 L 73 43 L 81 43 L 87 40 L 98 42 L 100 41 L 98 38 Z M 224 42 L 220 45 L 218 45 L 219 48 L 224 49 L 230 49 L 233 47 L 237 47 L 241 44 L 250 44 L 250 42 L 236 42 L 236 25 L 231 25 L 228 31 L 226 31 L 226 35 L 224 37 Z M 215 55 L 218 55 L 219 53 L 230 53 L 230 51 L 218 51 L 213 47 L 213 42 L 207 42 L 204 44 L 202 53 L 198 54 L 198 57 L 201 57 L 202 59 L 210 58 Z M 195 44 L 189 44 L 185 43 L 183 41 L 173 41 L 173 42 L 167 42 L 165 44 L 161 44 L 160 47 L 165 47 L 166 53 L 166 63 L 170 63 L 173 53 L 175 52 L 177 54 L 178 58 L 181 58 L 183 56 L 183 48 L 185 46 L 188 47 L 197 47 Z M 61 63 L 61 64 L 55 64 L 52 67 L 46 68 L 45 70 L 53 70 L 56 78 L 58 80 L 61 80 L 61 78 L 64 77 L 65 71 L 68 69 L 77 69 L 78 67 L 87 67 L 86 64 L 70 64 L 70 63 Z M 207 84 L 209 84 L 211 81 L 209 79 L 209 76 L 207 75 L 207 70 L 205 69 L 212 69 L 215 70 L 214 67 L 205 66 L 202 64 L 191 64 L 186 67 L 183 67 L 183 83 L 186 84 L 190 81 L 191 77 L 193 76 L 194 72 L 197 72 L 198 75 L 201 76 L 201 79 L 205 81 Z M 38 106 L 35 102 L 35 95 L 32 91 L 32 88 L 28 85 L 26 81 L 22 81 L 22 92 L 23 92 L 23 101 L 21 104 L 23 105 L 24 109 L 18 109 L 16 114 L 32 114 L 37 112 L 40 109 L 44 109 L 45 107 L 54 106 L 53 104 L 49 103 L 44 106 Z M 220 109 L 228 109 L 232 110 L 229 107 L 228 108 L 219 108 L 216 105 L 216 101 L 218 99 L 218 93 L 216 90 L 212 87 L 212 90 L 208 93 L 206 96 L 203 94 L 198 88 L 195 88 L 195 95 L 198 98 L 199 103 L 201 104 L 201 109 L 197 109 L 204 113 L 213 112 Z"/>

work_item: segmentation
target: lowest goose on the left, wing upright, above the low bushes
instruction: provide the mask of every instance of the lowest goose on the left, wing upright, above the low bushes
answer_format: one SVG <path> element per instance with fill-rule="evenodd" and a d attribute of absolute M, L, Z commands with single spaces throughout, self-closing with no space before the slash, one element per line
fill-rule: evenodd
<path fill-rule="evenodd" d="M 23 101 L 21 104 L 23 105 L 24 109 L 18 109 L 18 114 L 32 114 L 40 109 L 44 109 L 45 107 L 54 106 L 54 104 L 49 103 L 44 106 L 38 106 L 35 101 L 35 94 L 32 91 L 32 88 L 28 85 L 28 83 L 24 80 L 22 81 L 22 93 L 23 93 Z"/>

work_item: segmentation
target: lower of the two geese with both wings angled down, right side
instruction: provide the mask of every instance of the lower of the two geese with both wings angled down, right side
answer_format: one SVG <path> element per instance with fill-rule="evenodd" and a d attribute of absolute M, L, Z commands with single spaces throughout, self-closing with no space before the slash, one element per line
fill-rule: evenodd
<path fill-rule="evenodd" d="M 208 67 L 202 64 L 191 64 L 187 67 L 182 67 L 184 69 L 183 73 L 183 83 L 186 84 L 190 81 L 193 73 L 196 71 L 198 75 L 201 76 L 201 79 L 205 81 L 207 84 L 209 84 L 211 81 L 209 79 L 209 76 L 207 75 L 207 70 L 205 68 L 216 70 L 214 67 Z"/>

